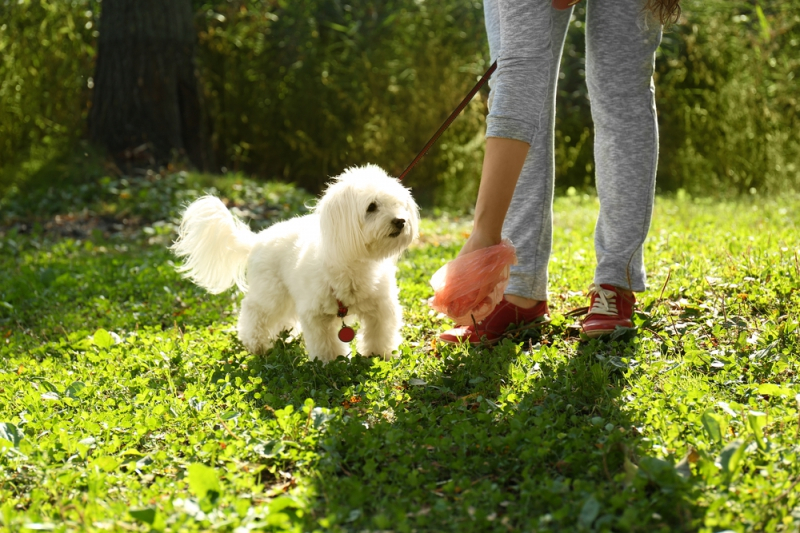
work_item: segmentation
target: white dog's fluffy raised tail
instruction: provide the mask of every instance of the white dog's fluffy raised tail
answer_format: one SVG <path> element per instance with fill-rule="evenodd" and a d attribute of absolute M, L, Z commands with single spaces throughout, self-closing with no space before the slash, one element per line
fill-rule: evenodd
<path fill-rule="evenodd" d="M 245 291 L 247 257 L 255 241 L 255 233 L 219 198 L 203 196 L 184 211 L 172 251 L 184 259 L 178 272 L 211 294 L 234 284 Z"/>

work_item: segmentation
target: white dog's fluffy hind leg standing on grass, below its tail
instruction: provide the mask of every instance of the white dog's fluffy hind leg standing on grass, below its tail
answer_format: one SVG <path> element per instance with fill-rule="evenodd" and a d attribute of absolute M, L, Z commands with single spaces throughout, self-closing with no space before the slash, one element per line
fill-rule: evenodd
<path fill-rule="evenodd" d="M 239 340 L 250 353 L 265 353 L 272 348 L 278 334 L 295 327 L 294 306 L 289 302 L 284 298 L 262 299 L 256 291 L 244 297 L 239 313 Z"/>

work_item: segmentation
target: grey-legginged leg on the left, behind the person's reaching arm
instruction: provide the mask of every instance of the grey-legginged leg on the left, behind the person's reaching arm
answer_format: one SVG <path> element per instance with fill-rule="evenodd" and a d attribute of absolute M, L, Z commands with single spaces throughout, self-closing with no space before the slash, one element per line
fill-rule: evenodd
<path fill-rule="evenodd" d="M 511 200 L 503 235 L 517 247 L 507 294 L 547 299 L 547 263 L 552 246 L 555 94 L 564 38 L 572 10 L 550 2 L 485 2 L 492 59 L 487 137 L 530 144 Z M 498 34 L 499 33 L 499 37 Z"/>

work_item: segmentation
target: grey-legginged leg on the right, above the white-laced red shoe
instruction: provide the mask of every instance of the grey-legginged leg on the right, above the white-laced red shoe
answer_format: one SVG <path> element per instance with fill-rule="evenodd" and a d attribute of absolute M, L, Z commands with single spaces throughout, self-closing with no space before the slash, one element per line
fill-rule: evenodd
<path fill-rule="evenodd" d="M 642 0 L 589 0 L 586 76 L 595 126 L 600 215 L 594 282 L 645 290 L 642 253 L 653 210 L 658 123 L 653 70 L 661 24 Z"/>

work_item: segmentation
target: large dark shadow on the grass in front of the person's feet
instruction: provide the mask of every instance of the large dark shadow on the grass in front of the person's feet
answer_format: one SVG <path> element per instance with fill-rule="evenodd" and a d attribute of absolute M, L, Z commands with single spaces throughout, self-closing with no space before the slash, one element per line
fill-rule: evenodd
<path fill-rule="evenodd" d="M 691 483 L 648 456 L 623 372 L 595 357 L 609 346 L 542 341 L 447 349 L 405 379 L 358 356 L 311 363 L 296 343 L 252 361 L 265 390 L 292 390 L 265 405 L 341 413 L 318 443 L 304 529 L 692 531 Z"/>

